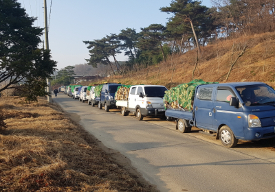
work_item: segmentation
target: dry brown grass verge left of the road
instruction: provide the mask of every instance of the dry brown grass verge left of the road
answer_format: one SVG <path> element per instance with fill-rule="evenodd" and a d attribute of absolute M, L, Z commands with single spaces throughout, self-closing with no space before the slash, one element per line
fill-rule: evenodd
<path fill-rule="evenodd" d="M 0 191 L 152 191 L 48 104 L 0 100 Z"/>

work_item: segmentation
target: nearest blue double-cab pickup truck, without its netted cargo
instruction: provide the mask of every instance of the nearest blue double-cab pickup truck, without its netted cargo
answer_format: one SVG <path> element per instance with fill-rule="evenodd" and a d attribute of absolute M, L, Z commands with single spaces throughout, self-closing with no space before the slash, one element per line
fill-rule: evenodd
<path fill-rule="evenodd" d="M 167 109 L 165 114 L 177 120 L 180 132 L 195 126 L 216 133 L 226 147 L 236 146 L 239 139 L 275 137 L 275 91 L 263 82 L 199 85 L 192 110 Z"/>

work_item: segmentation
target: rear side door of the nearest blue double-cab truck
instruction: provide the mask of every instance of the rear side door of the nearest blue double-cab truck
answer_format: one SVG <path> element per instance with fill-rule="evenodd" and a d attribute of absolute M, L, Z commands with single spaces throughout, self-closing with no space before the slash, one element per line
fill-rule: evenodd
<path fill-rule="evenodd" d="M 212 91 L 213 87 L 201 86 L 198 88 L 195 101 L 196 125 L 199 128 L 212 130 Z"/>

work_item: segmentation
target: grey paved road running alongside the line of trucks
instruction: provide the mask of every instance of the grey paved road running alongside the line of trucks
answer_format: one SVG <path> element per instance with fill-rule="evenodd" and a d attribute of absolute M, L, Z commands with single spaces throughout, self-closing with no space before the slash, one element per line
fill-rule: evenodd
<path fill-rule="evenodd" d="M 54 101 L 79 115 L 88 132 L 129 158 L 159 191 L 275 191 L 275 152 L 268 147 L 241 143 L 225 148 L 212 136 L 177 132 L 174 122 L 137 121 L 63 93 Z"/>

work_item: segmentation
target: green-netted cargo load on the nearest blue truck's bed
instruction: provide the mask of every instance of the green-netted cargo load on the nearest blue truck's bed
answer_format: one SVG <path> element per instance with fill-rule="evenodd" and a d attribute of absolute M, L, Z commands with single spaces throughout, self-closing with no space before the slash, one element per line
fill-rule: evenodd
<path fill-rule="evenodd" d="M 164 104 L 166 108 L 178 108 L 179 110 L 191 110 L 192 100 L 195 96 L 195 88 L 200 84 L 217 84 L 218 82 L 203 82 L 203 80 L 192 80 L 186 84 L 165 91 Z"/>

